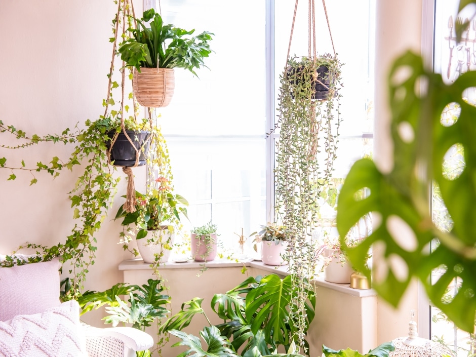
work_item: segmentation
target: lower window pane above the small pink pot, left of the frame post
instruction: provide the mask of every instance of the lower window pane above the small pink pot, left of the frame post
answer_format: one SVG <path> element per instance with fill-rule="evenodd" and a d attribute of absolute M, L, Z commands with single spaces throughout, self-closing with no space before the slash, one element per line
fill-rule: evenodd
<path fill-rule="evenodd" d="M 189 202 L 190 222 L 213 219 L 226 240 L 245 236 L 265 222 L 265 139 L 167 139 L 174 186 Z"/>

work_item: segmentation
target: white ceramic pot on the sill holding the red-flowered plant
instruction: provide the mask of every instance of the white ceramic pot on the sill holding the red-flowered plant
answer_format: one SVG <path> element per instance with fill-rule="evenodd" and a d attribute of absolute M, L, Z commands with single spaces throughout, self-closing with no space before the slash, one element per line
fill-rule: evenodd
<path fill-rule="evenodd" d="M 159 263 L 165 263 L 169 260 L 171 249 L 166 249 L 162 243 L 166 243 L 170 238 L 169 246 L 172 248 L 175 239 L 175 233 L 170 233 L 168 229 L 149 230 L 142 239 L 136 240 L 137 249 L 145 263 L 155 263 L 155 254 L 163 253 Z M 152 242 L 153 241 L 153 242 Z"/>

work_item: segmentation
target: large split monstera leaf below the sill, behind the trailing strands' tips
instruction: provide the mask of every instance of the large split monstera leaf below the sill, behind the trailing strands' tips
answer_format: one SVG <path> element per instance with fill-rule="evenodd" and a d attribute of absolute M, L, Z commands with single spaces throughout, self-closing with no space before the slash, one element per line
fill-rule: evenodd
<path fill-rule="evenodd" d="M 289 311 L 292 278 L 292 275 L 284 279 L 276 274 L 267 275 L 246 296 L 246 319 L 251 322 L 251 331 L 256 335 L 262 329 L 270 345 L 289 345 L 290 336 L 296 332 Z M 311 292 L 308 292 L 308 301 L 305 304 L 307 326 L 314 318 L 315 300 Z"/>

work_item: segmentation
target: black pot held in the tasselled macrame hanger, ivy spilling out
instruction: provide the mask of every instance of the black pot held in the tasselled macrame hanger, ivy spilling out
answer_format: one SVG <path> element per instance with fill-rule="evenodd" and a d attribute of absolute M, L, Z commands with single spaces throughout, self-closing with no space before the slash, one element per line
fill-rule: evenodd
<path fill-rule="evenodd" d="M 110 152 L 111 164 L 123 167 L 145 165 L 150 146 L 151 133 L 145 130 L 126 130 L 117 133 L 116 137 L 115 134 L 115 131 L 107 133 L 107 136 L 111 139 L 106 142 L 107 150 Z M 137 155 L 139 155 L 138 161 Z"/>

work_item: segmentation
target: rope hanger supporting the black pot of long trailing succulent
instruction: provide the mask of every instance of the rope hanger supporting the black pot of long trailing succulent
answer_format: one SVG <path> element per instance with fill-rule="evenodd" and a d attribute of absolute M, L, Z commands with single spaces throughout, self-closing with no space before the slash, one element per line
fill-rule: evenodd
<path fill-rule="evenodd" d="M 286 65 L 285 65 L 285 72 L 286 68 L 288 66 L 288 61 L 289 61 L 289 54 L 291 52 L 291 42 L 293 39 L 293 33 L 294 33 L 294 24 L 296 22 L 296 13 L 297 13 L 297 7 L 298 7 L 299 0 L 296 0 L 296 3 L 294 5 L 294 14 L 293 14 L 293 23 L 291 25 L 291 34 L 289 36 L 289 46 L 288 46 L 288 54 L 286 56 Z M 332 31 L 331 31 L 331 25 L 329 23 L 329 16 L 327 15 L 327 8 L 326 8 L 326 1 L 322 0 L 323 8 L 324 8 L 324 14 L 326 15 L 326 21 L 327 21 L 327 28 L 329 29 L 329 36 L 331 37 L 331 44 L 332 44 L 332 50 L 334 52 L 334 57 L 337 57 L 336 50 L 334 47 L 334 40 L 332 38 Z M 315 11 L 314 11 L 314 0 L 308 0 L 308 18 L 307 18 L 307 30 L 308 30 L 308 57 L 313 59 L 314 62 L 314 68 L 315 68 L 315 63 L 316 63 L 316 48 L 315 48 Z M 313 73 L 313 81 L 319 83 L 320 85 L 324 86 L 327 90 L 329 90 L 329 87 L 326 86 L 324 83 L 322 83 L 319 80 L 319 75 L 317 72 Z M 327 99 L 323 99 L 321 101 L 326 101 Z M 318 143 L 318 132 L 320 130 L 319 128 L 319 123 L 315 119 L 315 103 L 313 103 L 310 107 L 309 111 L 309 116 L 310 116 L 310 131 L 312 134 L 312 144 L 309 148 L 308 156 L 309 157 L 314 157 L 318 151 L 319 151 L 319 143 Z"/>

